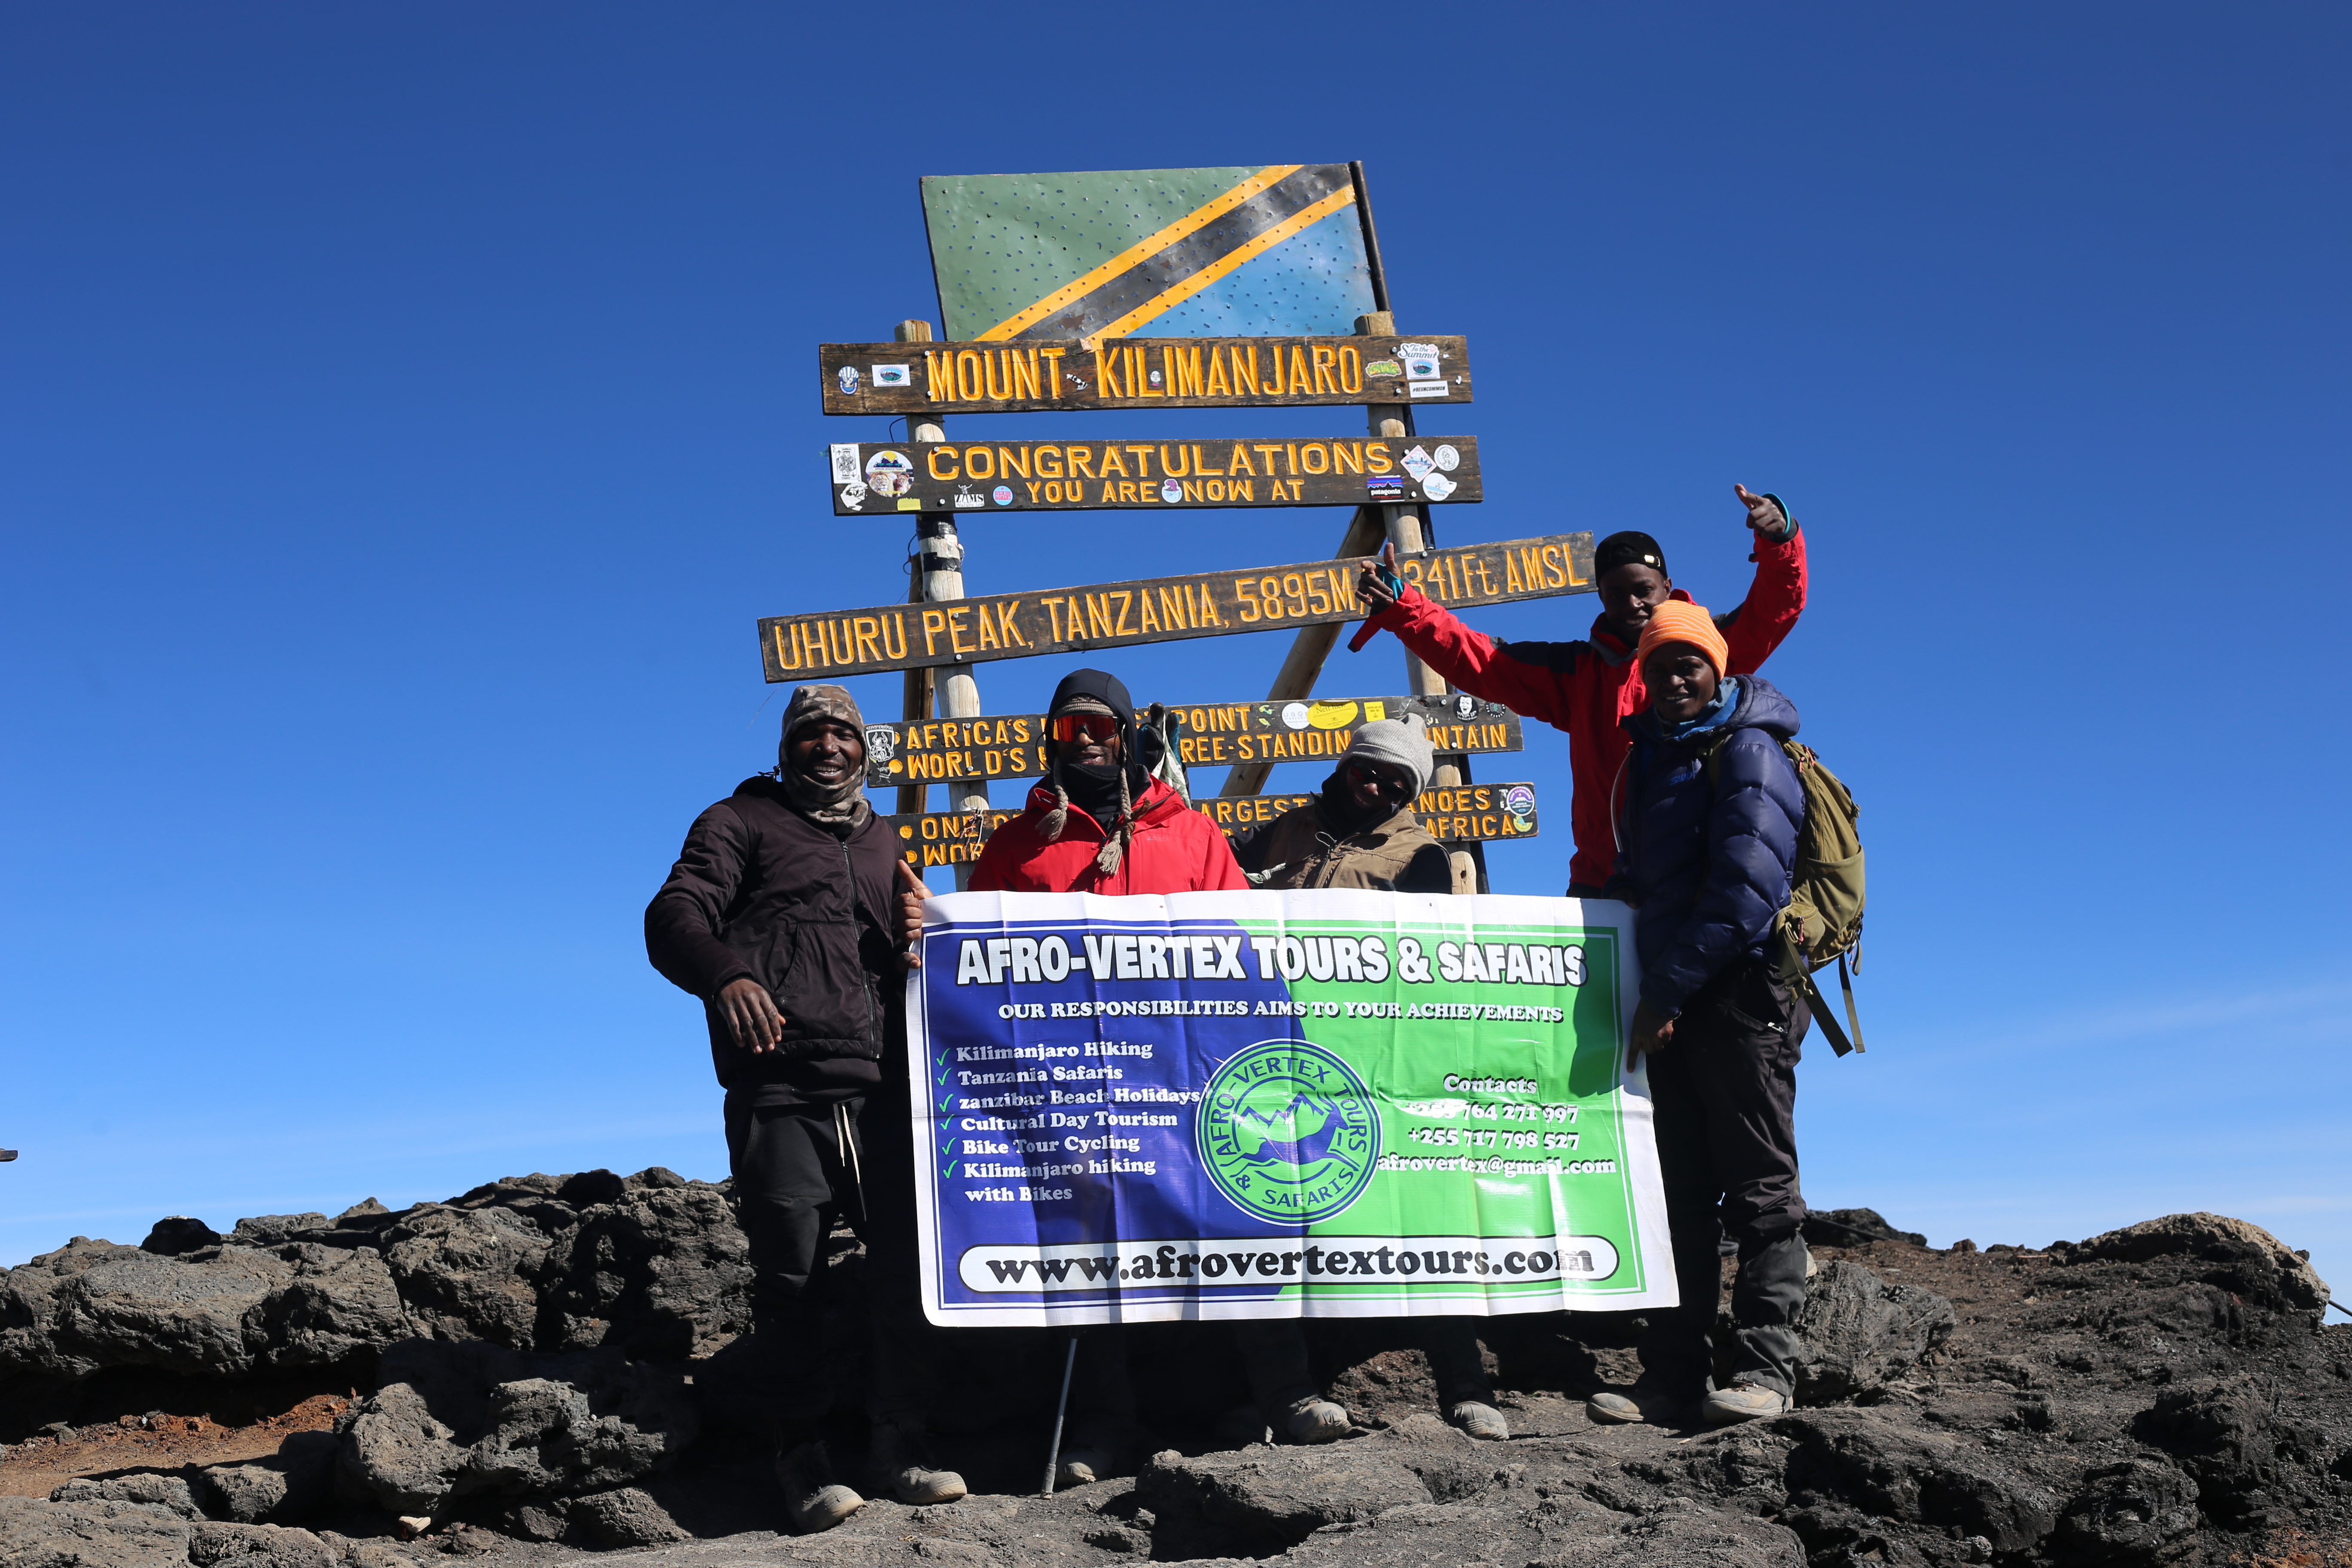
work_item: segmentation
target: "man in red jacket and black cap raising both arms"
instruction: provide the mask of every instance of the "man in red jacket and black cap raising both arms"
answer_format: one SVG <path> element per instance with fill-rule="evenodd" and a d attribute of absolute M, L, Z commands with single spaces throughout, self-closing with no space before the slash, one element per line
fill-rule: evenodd
<path fill-rule="evenodd" d="M 1726 675 L 1755 675 L 1780 646 L 1804 611 L 1804 534 L 1788 515 L 1780 496 L 1750 494 L 1731 487 L 1748 508 L 1755 531 L 1757 564 L 1748 599 L 1715 616 L 1731 646 Z M 1385 552 L 1388 571 L 1397 552 Z M 1357 592 L 1371 607 L 1371 625 L 1397 635 L 1421 663 L 1449 682 L 1503 703 L 1529 719 L 1543 719 L 1569 733 L 1569 776 L 1576 797 L 1569 816 L 1576 827 L 1576 858 L 1569 860 L 1569 898 L 1599 898 L 1616 870 L 1616 832 L 1609 802 L 1618 766 L 1632 745 L 1623 729 L 1628 715 L 1649 708 L 1642 665 L 1635 646 L 1649 611 L 1668 599 L 1689 604 L 1691 595 L 1665 576 L 1665 550 L 1649 534 L 1611 534 L 1592 550 L 1592 576 L 1602 595 L 1602 614 L 1583 642 L 1496 642 L 1472 632 L 1463 621 L 1428 599 L 1418 588 L 1395 592 L 1378 562 L 1364 562 Z"/>

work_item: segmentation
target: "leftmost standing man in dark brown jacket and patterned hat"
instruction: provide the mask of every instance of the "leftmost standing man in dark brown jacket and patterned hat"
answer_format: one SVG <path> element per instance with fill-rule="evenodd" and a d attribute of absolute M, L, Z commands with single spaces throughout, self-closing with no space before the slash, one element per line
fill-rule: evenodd
<path fill-rule="evenodd" d="M 727 1088 L 727 1161 L 750 1244 L 755 1387 L 769 1401 L 786 1509 L 823 1530 L 866 1505 L 821 1441 L 833 1408 L 821 1312 L 835 1218 L 866 1241 L 873 1295 L 873 1481 L 901 1502 L 953 1502 L 929 1458 L 906 1112 L 903 891 L 920 891 L 866 804 L 866 724 L 840 686 L 783 710 L 776 771 L 694 818 L 644 910 L 644 952 L 703 1001 Z M 868 1114 L 868 1103 L 873 1112 Z"/>

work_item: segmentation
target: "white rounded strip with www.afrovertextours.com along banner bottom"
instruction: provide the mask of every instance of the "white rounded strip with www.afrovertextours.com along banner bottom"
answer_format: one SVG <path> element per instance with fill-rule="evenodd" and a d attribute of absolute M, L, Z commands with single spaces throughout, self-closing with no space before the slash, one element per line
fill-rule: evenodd
<path fill-rule="evenodd" d="M 1618 1251 L 1604 1237 L 1232 1237 L 1202 1241 L 1063 1241 L 964 1248 L 967 1291 L 1063 1293 L 1167 1286 L 1602 1281 Z"/>

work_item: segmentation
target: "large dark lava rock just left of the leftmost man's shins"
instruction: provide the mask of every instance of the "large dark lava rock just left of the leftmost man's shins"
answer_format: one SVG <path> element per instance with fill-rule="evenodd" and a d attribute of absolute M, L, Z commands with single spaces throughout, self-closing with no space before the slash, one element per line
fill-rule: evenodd
<path fill-rule="evenodd" d="M 393 1514 L 473 1493 L 572 1495 L 626 1486 L 694 1441 L 684 1378 L 619 1352 L 536 1356 L 409 1340 L 383 1385 L 336 1422 L 341 1476 Z"/>

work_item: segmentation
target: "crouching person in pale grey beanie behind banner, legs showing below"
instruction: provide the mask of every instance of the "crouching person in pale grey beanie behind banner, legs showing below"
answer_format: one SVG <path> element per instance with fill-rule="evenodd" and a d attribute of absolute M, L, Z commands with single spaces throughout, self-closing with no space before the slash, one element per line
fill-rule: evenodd
<path fill-rule="evenodd" d="M 1348 741 L 1315 799 L 1237 839 L 1232 858 L 1242 863 L 1249 884 L 1261 889 L 1451 893 L 1446 851 L 1414 816 L 1414 802 L 1435 766 L 1437 757 L 1418 717 L 1374 719 Z M 1437 1408 L 1446 1420 L 1475 1439 L 1508 1439 L 1510 1425 L 1494 1408 L 1470 1319 L 1425 1316 L 1416 1328 L 1437 1375 Z M 1251 1319 L 1235 1324 L 1232 1333 L 1263 1408 L 1289 1413 L 1319 1406 L 1341 1418 L 1338 1406 L 1322 1401 L 1315 1389 L 1305 1333 L 1296 1321 Z"/>

